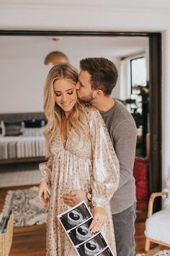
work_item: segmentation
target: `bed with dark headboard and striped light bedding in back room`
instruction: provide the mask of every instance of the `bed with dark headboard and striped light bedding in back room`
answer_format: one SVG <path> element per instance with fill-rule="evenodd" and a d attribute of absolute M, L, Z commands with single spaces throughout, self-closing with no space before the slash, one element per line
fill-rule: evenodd
<path fill-rule="evenodd" d="M 9 132 L 6 136 L 0 136 L 0 163 L 43 161 L 45 159 L 46 142 L 42 135 L 43 127 L 40 127 L 42 121 L 43 124 L 45 123 L 45 116 L 42 112 L 0 114 L 0 120 L 6 124 Z M 24 129 L 25 134 L 17 131 L 19 123 L 22 124 L 23 121 L 28 126 Z M 29 127 L 32 124 L 33 127 Z M 37 124 L 39 127 L 35 127 Z"/>

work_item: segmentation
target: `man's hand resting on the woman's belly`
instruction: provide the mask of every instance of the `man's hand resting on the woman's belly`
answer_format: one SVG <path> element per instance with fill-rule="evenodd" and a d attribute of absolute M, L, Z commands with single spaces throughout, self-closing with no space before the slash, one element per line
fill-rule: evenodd
<path fill-rule="evenodd" d="M 77 205 L 79 202 L 83 200 L 86 202 L 87 205 L 89 204 L 88 199 L 86 197 L 86 192 L 82 190 L 71 191 L 69 194 L 63 195 L 63 200 L 64 202 L 66 202 L 67 205 L 70 206 Z"/>

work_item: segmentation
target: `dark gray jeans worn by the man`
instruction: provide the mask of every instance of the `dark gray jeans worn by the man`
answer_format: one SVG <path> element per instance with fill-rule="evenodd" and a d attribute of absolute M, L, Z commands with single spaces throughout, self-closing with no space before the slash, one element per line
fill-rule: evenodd
<path fill-rule="evenodd" d="M 112 215 L 117 256 L 135 255 L 135 208 L 136 203 L 121 213 Z"/>

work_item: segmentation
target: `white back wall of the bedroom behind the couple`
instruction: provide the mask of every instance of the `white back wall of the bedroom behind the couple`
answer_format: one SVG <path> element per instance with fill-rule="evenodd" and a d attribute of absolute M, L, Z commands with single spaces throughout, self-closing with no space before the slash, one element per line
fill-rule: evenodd
<path fill-rule="evenodd" d="M 0 59 L 0 113 L 42 111 L 43 88 L 51 67 L 44 64 L 44 53 L 36 58 L 35 54 L 27 48 L 26 56 L 23 52 L 22 57 L 14 54 L 11 58 L 8 56 L 6 59 L 4 54 L 4 58 Z M 81 56 L 68 54 L 68 57 L 70 63 L 79 70 L 79 61 L 86 56 L 82 53 Z M 110 56 L 109 59 L 115 63 L 118 69 L 120 58 Z M 114 90 L 114 97 L 120 98 L 119 81 Z"/>

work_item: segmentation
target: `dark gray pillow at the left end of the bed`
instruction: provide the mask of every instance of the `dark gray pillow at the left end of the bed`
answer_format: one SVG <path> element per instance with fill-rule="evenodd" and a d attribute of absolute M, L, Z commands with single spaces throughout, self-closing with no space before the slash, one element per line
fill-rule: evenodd
<path fill-rule="evenodd" d="M 22 135 L 22 122 L 7 122 L 4 121 L 5 136 L 19 136 Z"/>

